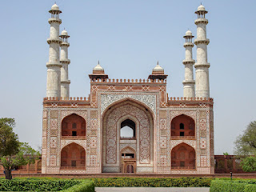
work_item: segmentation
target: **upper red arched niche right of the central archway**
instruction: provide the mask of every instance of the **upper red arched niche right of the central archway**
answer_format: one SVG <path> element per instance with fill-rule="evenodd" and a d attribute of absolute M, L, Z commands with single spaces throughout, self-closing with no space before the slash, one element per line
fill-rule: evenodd
<path fill-rule="evenodd" d="M 194 119 L 186 114 L 178 115 L 171 121 L 171 137 L 178 139 L 191 139 L 195 136 Z"/>

